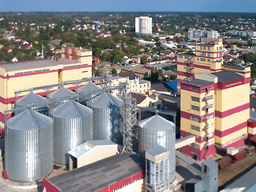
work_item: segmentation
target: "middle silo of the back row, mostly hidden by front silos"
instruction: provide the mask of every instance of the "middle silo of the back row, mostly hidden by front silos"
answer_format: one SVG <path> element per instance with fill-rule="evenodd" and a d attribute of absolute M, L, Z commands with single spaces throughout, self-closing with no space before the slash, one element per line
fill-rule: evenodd
<path fill-rule="evenodd" d="M 72 94 L 75 94 L 75 93 L 72 90 L 68 90 L 64 86 L 62 86 L 58 90 L 54 90 L 53 92 L 51 92 L 49 94 L 49 98 L 50 99 L 66 98 L 66 97 L 69 97 Z M 53 108 L 55 106 L 62 105 L 62 103 L 68 102 L 68 101 L 70 101 L 70 99 L 64 99 L 64 100 L 61 100 L 61 101 L 58 101 L 58 102 L 54 102 L 53 106 L 51 106 L 51 107 Z"/>

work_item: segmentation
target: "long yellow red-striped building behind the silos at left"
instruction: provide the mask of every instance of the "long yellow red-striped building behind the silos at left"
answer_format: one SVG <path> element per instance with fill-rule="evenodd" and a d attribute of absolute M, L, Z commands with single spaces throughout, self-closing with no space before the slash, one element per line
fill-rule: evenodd
<path fill-rule="evenodd" d="M 69 47 L 62 47 L 62 58 L 0 64 L 0 126 L 4 127 L 4 111 L 14 106 L 15 91 L 89 78 L 91 66 L 91 50 Z M 72 86 L 67 88 L 74 90 Z M 37 94 L 45 96 L 46 92 Z"/>

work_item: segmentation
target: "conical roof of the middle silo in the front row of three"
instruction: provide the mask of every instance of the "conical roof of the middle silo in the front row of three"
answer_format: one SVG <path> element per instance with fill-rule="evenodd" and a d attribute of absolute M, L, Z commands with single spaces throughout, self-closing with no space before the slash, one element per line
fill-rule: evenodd
<path fill-rule="evenodd" d="M 82 118 L 92 114 L 92 112 L 90 108 L 71 100 L 52 110 L 53 116 L 58 118 Z"/>

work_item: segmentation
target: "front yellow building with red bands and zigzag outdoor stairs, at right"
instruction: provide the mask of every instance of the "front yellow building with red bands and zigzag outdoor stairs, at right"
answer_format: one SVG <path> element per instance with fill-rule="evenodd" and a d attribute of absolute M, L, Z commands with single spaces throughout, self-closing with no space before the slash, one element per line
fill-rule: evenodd
<path fill-rule="evenodd" d="M 194 74 L 181 82 L 181 137 L 196 136 L 182 153 L 202 161 L 215 153 L 214 144 L 239 147 L 248 138 L 250 83 L 240 74 L 219 71 Z"/>

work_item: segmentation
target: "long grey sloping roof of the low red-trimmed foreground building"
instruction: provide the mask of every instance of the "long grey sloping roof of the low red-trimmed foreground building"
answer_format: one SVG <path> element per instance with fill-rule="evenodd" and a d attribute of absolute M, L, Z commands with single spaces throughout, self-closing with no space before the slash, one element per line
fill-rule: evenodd
<path fill-rule="evenodd" d="M 138 154 L 124 152 L 50 178 L 49 181 L 62 192 L 97 191 L 143 170 L 145 162 Z"/>

